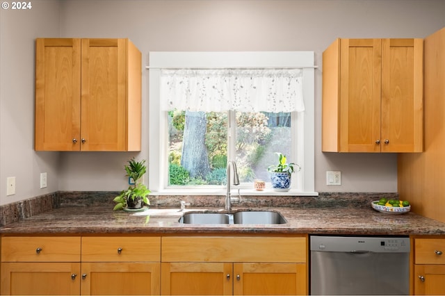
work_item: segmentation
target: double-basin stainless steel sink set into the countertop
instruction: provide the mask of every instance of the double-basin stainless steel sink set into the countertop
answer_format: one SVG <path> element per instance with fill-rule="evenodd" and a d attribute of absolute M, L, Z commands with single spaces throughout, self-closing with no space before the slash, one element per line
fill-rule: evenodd
<path fill-rule="evenodd" d="M 276 211 L 190 212 L 184 213 L 183 224 L 285 224 L 283 215 Z"/>

